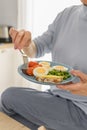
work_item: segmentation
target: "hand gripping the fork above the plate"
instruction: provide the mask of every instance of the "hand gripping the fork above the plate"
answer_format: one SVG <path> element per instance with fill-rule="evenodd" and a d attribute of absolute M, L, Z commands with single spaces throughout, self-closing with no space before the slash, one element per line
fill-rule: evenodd
<path fill-rule="evenodd" d="M 21 50 L 24 47 L 28 47 L 31 43 L 31 33 L 29 31 L 17 31 L 14 28 L 10 28 L 9 34 L 12 38 L 15 49 Z"/>

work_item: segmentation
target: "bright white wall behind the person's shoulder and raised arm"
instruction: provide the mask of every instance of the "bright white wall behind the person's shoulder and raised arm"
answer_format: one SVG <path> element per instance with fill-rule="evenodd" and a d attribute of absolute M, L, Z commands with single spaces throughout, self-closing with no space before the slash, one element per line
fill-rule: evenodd
<path fill-rule="evenodd" d="M 29 0 L 27 0 L 29 2 Z M 32 32 L 33 37 L 46 31 L 57 14 L 71 5 L 81 4 L 80 0 L 32 0 Z M 29 3 L 27 10 L 29 9 Z M 29 11 L 28 11 L 29 12 Z M 29 13 L 27 13 L 29 15 Z M 27 16 L 28 17 L 28 16 Z M 28 19 L 29 22 L 30 19 Z M 29 23 L 28 22 L 28 23 Z"/>

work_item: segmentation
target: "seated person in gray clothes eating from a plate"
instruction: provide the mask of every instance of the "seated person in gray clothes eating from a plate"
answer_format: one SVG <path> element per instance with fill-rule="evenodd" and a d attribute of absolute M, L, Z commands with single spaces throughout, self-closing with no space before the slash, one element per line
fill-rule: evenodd
<path fill-rule="evenodd" d="M 31 122 L 32 126 L 53 130 L 87 129 L 87 0 L 81 2 L 60 12 L 48 30 L 35 39 L 29 31 L 10 29 L 15 49 L 23 49 L 32 58 L 51 52 L 52 61 L 72 66 L 71 73 L 78 79 L 51 85 L 46 92 L 6 89 L 1 96 L 2 110 L 25 125 Z"/>

